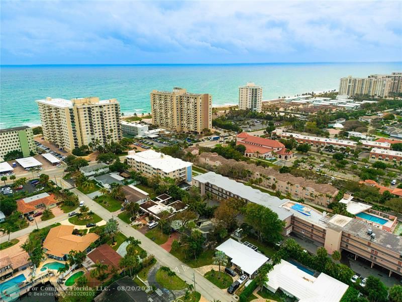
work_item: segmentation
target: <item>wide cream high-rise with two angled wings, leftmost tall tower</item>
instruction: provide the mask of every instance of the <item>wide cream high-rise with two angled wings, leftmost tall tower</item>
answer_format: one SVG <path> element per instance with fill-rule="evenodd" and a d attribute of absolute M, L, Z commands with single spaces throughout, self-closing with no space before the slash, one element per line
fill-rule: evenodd
<path fill-rule="evenodd" d="M 43 136 L 68 152 L 82 145 L 93 149 L 122 139 L 120 104 L 97 97 L 37 100 Z"/>

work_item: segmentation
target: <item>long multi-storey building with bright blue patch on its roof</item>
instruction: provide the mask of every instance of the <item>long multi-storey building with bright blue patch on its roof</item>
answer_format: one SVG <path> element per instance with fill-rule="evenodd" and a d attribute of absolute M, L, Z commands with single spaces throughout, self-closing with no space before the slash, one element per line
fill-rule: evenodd
<path fill-rule="evenodd" d="M 201 194 L 210 192 L 217 200 L 242 199 L 270 208 L 284 222 L 283 235 L 296 233 L 302 238 L 313 240 L 332 254 L 346 250 L 371 261 L 371 267 L 379 265 L 402 275 L 402 240 L 400 236 L 388 233 L 374 224 L 326 212 L 319 212 L 308 205 L 279 199 L 252 187 L 231 180 L 214 172 L 194 176 L 194 185 Z"/>

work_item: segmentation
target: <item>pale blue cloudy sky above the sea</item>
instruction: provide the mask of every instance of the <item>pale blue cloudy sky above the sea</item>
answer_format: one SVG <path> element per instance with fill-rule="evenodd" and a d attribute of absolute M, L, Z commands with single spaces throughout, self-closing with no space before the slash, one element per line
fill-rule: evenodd
<path fill-rule="evenodd" d="M 402 1 L 2 1 L 2 64 L 402 61 Z"/>

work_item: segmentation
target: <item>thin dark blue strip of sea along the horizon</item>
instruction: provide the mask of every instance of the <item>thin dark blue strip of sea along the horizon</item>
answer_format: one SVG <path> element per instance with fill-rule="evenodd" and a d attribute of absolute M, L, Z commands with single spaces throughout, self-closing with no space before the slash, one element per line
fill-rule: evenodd
<path fill-rule="evenodd" d="M 174 65 L 267 65 L 267 64 L 367 64 L 367 63 L 402 63 L 402 61 L 323 61 L 323 62 L 251 62 L 251 63 L 73 63 L 73 64 L 0 64 L 0 67 L 17 66 L 174 66 Z"/>

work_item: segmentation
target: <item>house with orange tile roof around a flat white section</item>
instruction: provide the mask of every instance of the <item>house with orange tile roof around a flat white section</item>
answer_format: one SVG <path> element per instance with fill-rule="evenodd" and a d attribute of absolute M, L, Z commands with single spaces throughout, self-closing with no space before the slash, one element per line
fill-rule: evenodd
<path fill-rule="evenodd" d="M 41 193 L 17 200 L 17 210 L 27 216 L 45 208 L 50 209 L 55 207 L 57 202 L 53 194 Z"/>

